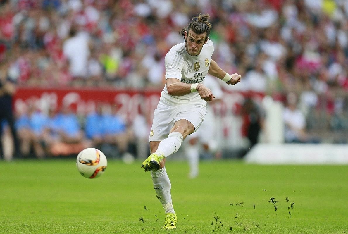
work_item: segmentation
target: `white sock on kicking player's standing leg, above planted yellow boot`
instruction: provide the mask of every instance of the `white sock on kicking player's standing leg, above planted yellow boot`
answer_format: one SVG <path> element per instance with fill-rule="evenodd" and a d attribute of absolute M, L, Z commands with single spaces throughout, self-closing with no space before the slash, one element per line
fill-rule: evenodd
<path fill-rule="evenodd" d="M 162 203 L 165 213 L 173 213 L 172 196 L 171 196 L 171 181 L 166 172 L 166 167 L 157 171 L 151 171 L 153 188 L 156 191 L 158 200 Z"/>

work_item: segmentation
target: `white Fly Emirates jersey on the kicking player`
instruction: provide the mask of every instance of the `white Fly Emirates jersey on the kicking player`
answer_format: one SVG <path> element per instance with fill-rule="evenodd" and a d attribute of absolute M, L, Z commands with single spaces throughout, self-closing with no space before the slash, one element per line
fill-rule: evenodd
<path fill-rule="evenodd" d="M 203 82 L 208 73 L 213 52 L 214 45 L 211 40 L 203 45 L 200 54 L 196 56 L 187 53 L 185 42 L 173 46 L 165 57 L 166 79 L 176 78 L 187 84 Z M 164 86 L 160 101 L 172 104 L 200 103 L 206 105 L 206 101 L 201 99 L 198 92 L 183 96 L 169 95 L 167 85 Z"/>

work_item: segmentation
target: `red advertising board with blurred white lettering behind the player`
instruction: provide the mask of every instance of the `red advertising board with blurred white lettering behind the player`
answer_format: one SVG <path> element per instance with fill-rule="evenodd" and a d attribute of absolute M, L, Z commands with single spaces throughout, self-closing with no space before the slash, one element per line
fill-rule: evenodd
<path fill-rule="evenodd" d="M 96 109 L 97 105 L 108 103 L 117 107 L 117 113 L 125 119 L 132 119 L 139 113 L 151 122 L 153 110 L 156 109 L 161 90 L 124 90 L 101 88 L 37 88 L 19 87 L 14 97 L 16 112 L 21 113 L 29 106 L 35 105 L 43 112 L 50 108 L 59 110 L 70 106 L 78 115 L 86 115 Z M 221 116 L 236 114 L 246 96 L 261 99 L 264 94 L 255 92 L 224 91 L 223 100 L 214 105 L 215 112 Z"/>

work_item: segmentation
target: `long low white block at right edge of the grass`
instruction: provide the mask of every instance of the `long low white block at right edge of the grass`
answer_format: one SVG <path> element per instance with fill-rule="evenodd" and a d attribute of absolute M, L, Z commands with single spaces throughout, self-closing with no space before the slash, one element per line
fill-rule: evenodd
<path fill-rule="evenodd" d="M 348 164 L 348 145 L 257 144 L 244 159 L 258 164 Z"/>

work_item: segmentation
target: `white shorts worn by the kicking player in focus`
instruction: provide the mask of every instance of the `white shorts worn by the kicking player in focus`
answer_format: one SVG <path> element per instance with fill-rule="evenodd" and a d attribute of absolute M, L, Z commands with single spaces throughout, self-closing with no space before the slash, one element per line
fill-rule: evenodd
<path fill-rule="evenodd" d="M 206 112 L 206 103 L 190 103 L 176 106 L 163 102 L 158 103 L 153 115 L 149 142 L 166 139 L 174 123 L 180 119 L 186 119 L 192 123 L 196 132 L 203 122 Z"/>

